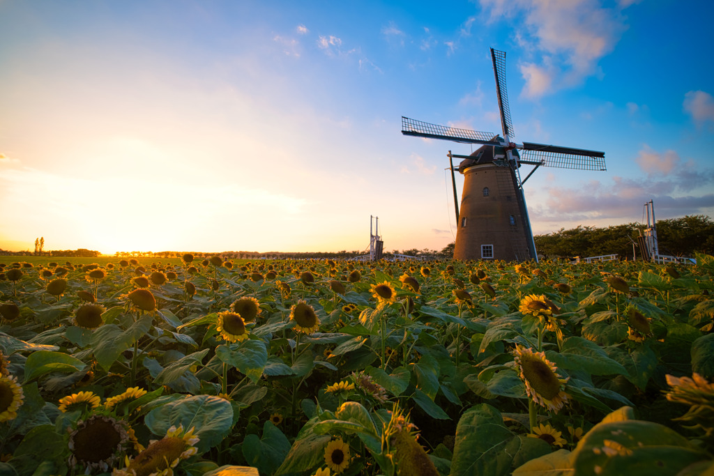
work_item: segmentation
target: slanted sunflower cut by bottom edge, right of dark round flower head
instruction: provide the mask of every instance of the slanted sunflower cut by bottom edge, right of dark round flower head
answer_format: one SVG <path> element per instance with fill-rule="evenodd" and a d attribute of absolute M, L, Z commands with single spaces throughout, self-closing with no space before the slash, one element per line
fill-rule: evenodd
<path fill-rule="evenodd" d="M 183 432 L 183 425 L 171 426 L 161 440 L 153 440 L 146 450 L 131 460 L 124 470 L 114 470 L 112 476 L 172 476 L 174 467 L 181 460 L 186 460 L 198 452 L 198 437 L 193 435 L 193 428 Z"/>

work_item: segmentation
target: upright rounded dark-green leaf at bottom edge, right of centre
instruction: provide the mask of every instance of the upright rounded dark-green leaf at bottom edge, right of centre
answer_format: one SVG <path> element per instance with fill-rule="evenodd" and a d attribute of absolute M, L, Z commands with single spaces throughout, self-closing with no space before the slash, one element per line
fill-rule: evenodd
<path fill-rule="evenodd" d="M 496 408 L 486 403 L 471 407 L 458 420 L 451 476 L 508 475 L 513 457 L 504 450 L 513 437 Z"/>

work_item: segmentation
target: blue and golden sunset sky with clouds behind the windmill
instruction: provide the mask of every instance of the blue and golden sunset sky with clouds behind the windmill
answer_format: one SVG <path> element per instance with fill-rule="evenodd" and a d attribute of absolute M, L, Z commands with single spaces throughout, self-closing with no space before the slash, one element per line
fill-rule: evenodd
<path fill-rule="evenodd" d="M 535 234 L 714 217 L 714 4 L 0 0 L 0 248 L 441 250 L 449 150 L 401 116 L 605 152 Z M 521 175 L 528 172 L 524 166 Z M 463 177 L 457 175 L 461 197 Z"/>

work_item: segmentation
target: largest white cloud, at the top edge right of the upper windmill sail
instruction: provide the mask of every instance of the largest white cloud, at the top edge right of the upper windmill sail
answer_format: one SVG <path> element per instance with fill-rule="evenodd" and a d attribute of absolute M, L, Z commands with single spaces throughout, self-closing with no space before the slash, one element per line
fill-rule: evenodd
<path fill-rule="evenodd" d="M 627 28 L 620 14 L 624 6 L 605 8 L 598 0 L 481 0 L 481 6 L 490 21 L 523 17 L 518 42 L 541 56 L 521 66 L 527 97 L 572 87 L 598 74 L 598 61 Z"/>

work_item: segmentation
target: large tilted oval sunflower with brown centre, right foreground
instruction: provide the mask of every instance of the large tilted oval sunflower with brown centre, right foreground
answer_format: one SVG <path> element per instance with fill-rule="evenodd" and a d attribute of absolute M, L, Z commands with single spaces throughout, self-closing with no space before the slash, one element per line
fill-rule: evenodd
<path fill-rule="evenodd" d="M 568 394 L 563 391 L 568 378 L 560 378 L 555 373 L 558 368 L 545 358 L 543 352 L 516 345 L 515 353 L 516 370 L 526 384 L 528 396 L 538 405 L 557 413 L 568 402 Z"/>

